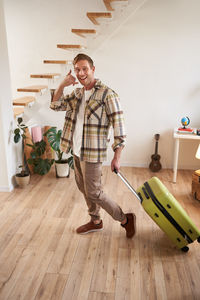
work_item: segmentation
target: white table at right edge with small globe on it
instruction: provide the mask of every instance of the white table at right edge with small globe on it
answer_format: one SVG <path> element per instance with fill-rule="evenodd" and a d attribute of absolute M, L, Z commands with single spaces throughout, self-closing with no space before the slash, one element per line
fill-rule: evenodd
<path fill-rule="evenodd" d="M 187 134 L 187 133 L 177 133 L 177 129 L 174 129 L 174 139 L 175 139 L 175 146 L 174 146 L 174 164 L 173 164 L 173 182 L 176 182 L 177 176 L 177 167 L 178 167 L 178 155 L 179 155 L 179 142 L 180 140 L 200 140 L 200 135 L 196 134 Z"/>

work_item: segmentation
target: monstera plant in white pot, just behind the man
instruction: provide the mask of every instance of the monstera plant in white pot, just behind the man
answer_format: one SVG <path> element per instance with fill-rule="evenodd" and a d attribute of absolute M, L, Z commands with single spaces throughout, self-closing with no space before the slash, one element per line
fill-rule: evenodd
<path fill-rule="evenodd" d="M 44 133 L 47 137 L 51 148 L 55 151 L 57 159 L 55 160 L 56 177 L 69 177 L 70 168 L 74 169 L 73 152 L 70 149 L 67 158 L 63 158 L 64 152 L 60 149 L 62 130 L 51 127 Z"/>

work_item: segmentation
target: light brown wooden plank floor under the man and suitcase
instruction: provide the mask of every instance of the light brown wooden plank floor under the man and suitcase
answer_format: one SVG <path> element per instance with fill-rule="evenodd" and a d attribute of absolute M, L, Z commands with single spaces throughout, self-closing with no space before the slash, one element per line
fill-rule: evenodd
<path fill-rule="evenodd" d="M 134 187 L 153 174 L 121 168 Z M 200 202 L 191 196 L 192 171 L 156 174 L 200 228 Z M 200 299 L 200 244 L 183 253 L 145 213 L 120 179 L 103 169 L 105 191 L 125 212 L 137 215 L 132 240 L 102 210 L 104 230 L 77 235 L 88 221 L 74 174 L 56 179 L 54 169 L 34 175 L 26 189 L 0 193 L 0 299 L 146 300 Z"/>

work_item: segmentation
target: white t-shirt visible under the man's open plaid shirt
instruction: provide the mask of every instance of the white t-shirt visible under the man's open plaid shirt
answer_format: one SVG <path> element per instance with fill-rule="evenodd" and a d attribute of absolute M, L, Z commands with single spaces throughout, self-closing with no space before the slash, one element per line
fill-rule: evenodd
<path fill-rule="evenodd" d="M 82 145 L 85 104 L 86 101 L 90 98 L 91 94 L 92 94 L 92 90 L 88 90 L 88 91 L 85 90 L 79 107 L 79 112 L 77 114 L 77 120 L 76 120 L 76 125 L 73 134 L 73 152 L 78 157 L 80 157 L 81 145 Z"/>

